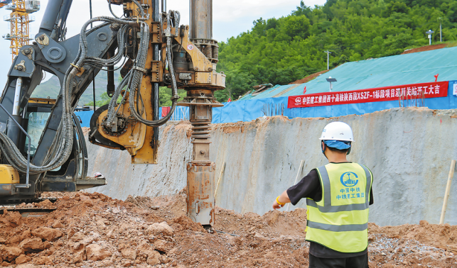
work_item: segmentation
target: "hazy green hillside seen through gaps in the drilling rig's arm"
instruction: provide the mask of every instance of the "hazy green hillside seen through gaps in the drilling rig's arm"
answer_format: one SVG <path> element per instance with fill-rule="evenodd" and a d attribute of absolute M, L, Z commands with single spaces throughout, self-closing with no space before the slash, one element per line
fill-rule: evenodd
<path fill-rule="evenodd" d="M 107 72 L 100 71 L 95 77 L 95 97 L 97 101 L 102 99 L 102 94 L 107 91 Z M 114 72 L 114 84 L 119 84 L 120 74 L 119 71 Z M 60 83 L 57 77 L 53 76 L 48 81 L 38 85 L 33 91 L 32 98 L 48 98 L 50 96 L 52 99 L 55 99 L 58 96 L 60 91 Z M 82 106 L 85 104 L 93 103 L 93 94 L 92 94 L 92 83 L 87 86 L 86 91 L 82 94 L 78 105 Z"/>

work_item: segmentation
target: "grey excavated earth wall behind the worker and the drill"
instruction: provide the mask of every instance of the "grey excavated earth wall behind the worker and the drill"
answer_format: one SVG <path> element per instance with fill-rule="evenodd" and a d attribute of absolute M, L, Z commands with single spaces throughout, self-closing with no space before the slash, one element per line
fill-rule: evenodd
<path fill-rule="evenodd" d="M 451 160 L 457 160 L 457 111 L 392 108 L 363 116 L 338 118 L 259 118 L 213 125 L 210 155 L 216 178 L 226 163 L 217 205 L 237 212 L 263 214 L 282 191 L 314 167 L 326 164 L 318 137 L 331 121 L 351 125 L 355 135 L 348 159 L 374 174 L 375 204 L 370 222 L 377 225 L 438 223 Z M 130 164 L 128 152 L 88 143 L 89 174 L 101 172 L 107 186 L 97 191 L 117 199 L 176 194 L 186 186 L 190 160 L 190 124 L 160 128 L 158 164 Z M 451 186 L 445 223 L 457 224 L 457 182 Z M 297 205 L 306 207 L 302 200 Z M 291 206 L 289 210 L 294 209 Z"/>

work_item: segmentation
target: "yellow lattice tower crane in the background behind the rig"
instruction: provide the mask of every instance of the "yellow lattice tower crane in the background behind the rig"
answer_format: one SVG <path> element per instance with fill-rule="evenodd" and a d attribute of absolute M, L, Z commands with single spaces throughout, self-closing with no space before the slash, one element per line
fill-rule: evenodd
<path fill-rule="evenodd" d="M 28 45 L 28 23 L 35 21 L 34 16 L 28 14 L 40 10 L 40 1 L 33 0 L 0 0 L 0 8 L 11 10 L 10 16 L 5 16 L 4 21 L 8 21 L 11 25 L 11 33 L 7 33 L 3 37 L 6 40 L 11 40 L 11 54 L 14 57 L 18 55 L 19 49 L 23 45 Z"/>

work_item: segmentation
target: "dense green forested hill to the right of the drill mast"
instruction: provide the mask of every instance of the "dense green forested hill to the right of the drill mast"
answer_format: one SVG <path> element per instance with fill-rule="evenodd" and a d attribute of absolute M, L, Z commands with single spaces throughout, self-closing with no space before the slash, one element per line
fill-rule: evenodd
<path fill-rule="evenodd" d="M 218 71 L 227 74 L 224 101 L 257 84 L 289 84 L 344 62 L 397 55 L 405 49 L 457 40 L 456 0 L 328 0 L 308 7 L 301 1 L 291 15 L 259 18 L 252 30 L 221 42 Z"/>

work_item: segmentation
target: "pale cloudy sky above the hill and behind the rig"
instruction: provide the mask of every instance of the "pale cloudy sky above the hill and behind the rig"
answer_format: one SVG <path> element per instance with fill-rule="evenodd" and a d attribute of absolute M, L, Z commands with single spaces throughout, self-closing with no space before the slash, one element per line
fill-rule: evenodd
<path fill-rule="evenodd" d="M 323 5 L 326 0 L 304 0 L 306 6 Z M 41 10 L 32 13 L 35 17 L 30 23 L 30 36 L 33 38 L 41 24 L 41 19 L 48 4 L 48 0 L 41 0 Z M 252 28 L 252 22 L 262 17 L 280 18 L 287 16 L 300 5 L 300 0 L 213 0 L 213 38 L 217 41 L 226 41 L 227 38 L 237 36 Z M 122 14 L 120 6 L 112 7 L 114 13 Z M 181 13 L 181 24 L 189 24 L 189 0 L 168 0 L 168 10 L 176 10 Z M 0 9 L 0 18 L 9 17 L 11 11 Z M 92 0 L 92 16 L 112 16 L 109 13 L 107 0 Z M 85 21 L 90 19 L 89 0 L 73 0 L 70 14 L 67 20 L 67 38 L 77 35 Z M 9 23 L 0 21 L 0 36 L 10 33 Z M 6 74 L 11 67 L 11 54 L 9 40 L 0 38 L 0 59 L 4 64 L 0 65 L 0 86 L 3 89 L 6 83 Z M 49 77 L 47 77 L 48 79 Z"/>

